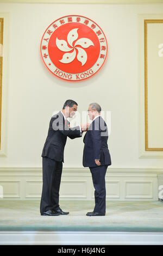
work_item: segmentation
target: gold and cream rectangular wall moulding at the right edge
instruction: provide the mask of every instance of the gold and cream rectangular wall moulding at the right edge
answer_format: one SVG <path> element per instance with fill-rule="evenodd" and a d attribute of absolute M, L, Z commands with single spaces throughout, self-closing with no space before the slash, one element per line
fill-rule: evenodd
<path fill-rule="evenodd" d="M 148 147 L 147 23 L 162 21 L 163 14 L 140 14 L 139 20 L 139 158 L 162 158 L 162 149 Z"/>

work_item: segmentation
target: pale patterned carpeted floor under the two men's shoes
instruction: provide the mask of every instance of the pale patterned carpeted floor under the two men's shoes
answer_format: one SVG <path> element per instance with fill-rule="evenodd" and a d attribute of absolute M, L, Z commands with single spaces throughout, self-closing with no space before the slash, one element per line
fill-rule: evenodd
<path fill-rule="evenodd" d="M 69 215 L 41 216 L 39 201 L 0 200 L 0 231 L 163 231 L 160 201 L 108 201 L 106 216 L 88 217 L 93 201 L 61 201 Z"/>

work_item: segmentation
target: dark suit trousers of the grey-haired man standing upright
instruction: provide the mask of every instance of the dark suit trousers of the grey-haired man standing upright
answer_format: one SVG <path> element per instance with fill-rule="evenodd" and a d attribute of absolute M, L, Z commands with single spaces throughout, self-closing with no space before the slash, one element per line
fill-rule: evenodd
<path fill-rule="evenodd" d="M 105 174 L 108 166 L 89 167 L 93 186 L 95 188 L 95 208 L 94 212 L 105 214 L 106 211 L 106 188 L 105 188 Z"/>

